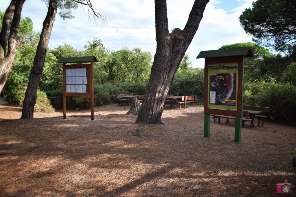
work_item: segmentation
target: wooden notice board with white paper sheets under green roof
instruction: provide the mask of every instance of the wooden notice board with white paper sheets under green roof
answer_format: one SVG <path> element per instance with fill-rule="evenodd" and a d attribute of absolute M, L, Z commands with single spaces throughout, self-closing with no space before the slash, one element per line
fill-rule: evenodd
<path fill-rule="evenodd" d="M 63 63 L 63 113 L 66 119 L 66 96 L 90 97 L 91 120 L 94 120 L 94 62 L 95 56 L 61 58 Z M 74 64 L 73 64 L 74 63 Z"/>

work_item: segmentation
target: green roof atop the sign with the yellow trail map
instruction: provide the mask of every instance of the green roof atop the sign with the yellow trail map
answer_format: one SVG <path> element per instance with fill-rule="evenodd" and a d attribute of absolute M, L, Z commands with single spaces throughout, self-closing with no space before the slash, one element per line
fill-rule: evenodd
<path fill-rule="evenodd" d="M 213 57 L 228 57 L 228 56 L 244 56 L 245 58 L 253 57 L 250 47 L 218 49 L 211 51 L 200 51 L 196 58 L 213 58 Z"/>

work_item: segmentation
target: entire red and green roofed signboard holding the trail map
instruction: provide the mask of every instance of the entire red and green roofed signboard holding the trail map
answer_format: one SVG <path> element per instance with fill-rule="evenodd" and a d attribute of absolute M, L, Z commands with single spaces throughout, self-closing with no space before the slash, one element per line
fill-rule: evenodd
<path fill-rule="evenodd" d="M 210 136 L 210 114 L 235 117 L 234 141 L 241 141 L 244 58 L 253 57 L 250 47 L 201 51 L 205 58 L 205 137 Z"/>

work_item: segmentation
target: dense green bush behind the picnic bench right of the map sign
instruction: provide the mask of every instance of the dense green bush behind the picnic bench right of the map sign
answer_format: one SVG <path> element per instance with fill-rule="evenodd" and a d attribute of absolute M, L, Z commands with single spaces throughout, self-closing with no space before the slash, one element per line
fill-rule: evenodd
<path fill-rule="evenodd" d="M 287 82 L 255 81 L 244 84 L 251 94 L 244 97 L 245 105 L 269 107 L 274 122 L 295 124 L 296 86 Z"/>

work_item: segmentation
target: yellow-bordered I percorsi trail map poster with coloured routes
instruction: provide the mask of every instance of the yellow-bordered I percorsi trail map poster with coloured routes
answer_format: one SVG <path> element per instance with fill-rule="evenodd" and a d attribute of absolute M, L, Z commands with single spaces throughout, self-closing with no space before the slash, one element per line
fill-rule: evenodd
<path fill-rule="evenodd" d="M 208 109 L 237 111 L 237 76 L 237 62 L 208 65 Z"/>

